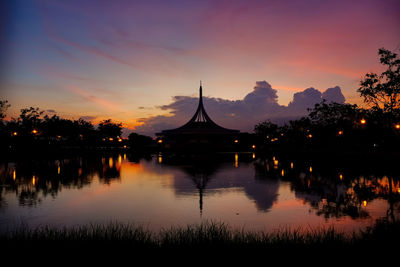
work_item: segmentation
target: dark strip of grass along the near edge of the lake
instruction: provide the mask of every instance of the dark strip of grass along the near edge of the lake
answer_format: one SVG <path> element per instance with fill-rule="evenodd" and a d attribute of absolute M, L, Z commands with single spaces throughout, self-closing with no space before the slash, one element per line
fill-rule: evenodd
<path fill-rule="evenodd" d="M 399 247 L 400 223 L 377 222 L 367 230 L 345 235 L 334 228 L 301 231 L 282 229 L 271 233 L 237 230 L 225 223 L 208 222 L 171 227 L 157 233 L 143 226 L 113 222 L 76 227 L 20 226 L 0 235 L 4 249 L 91 249 L 131 251 L 354 251 Z"/>

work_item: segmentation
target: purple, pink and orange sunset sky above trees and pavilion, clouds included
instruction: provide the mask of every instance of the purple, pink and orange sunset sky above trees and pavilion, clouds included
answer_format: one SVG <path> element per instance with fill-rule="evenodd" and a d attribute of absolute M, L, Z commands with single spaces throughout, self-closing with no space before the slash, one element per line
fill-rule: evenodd
<path fill-rule="evenodd" d="M 0 92 L 11 107 L 154 134 L 191 118 L 251 130 L 328 97 L 362 104 L 378 49 L 400 49 L 400 0 L 4 0 Z"/>

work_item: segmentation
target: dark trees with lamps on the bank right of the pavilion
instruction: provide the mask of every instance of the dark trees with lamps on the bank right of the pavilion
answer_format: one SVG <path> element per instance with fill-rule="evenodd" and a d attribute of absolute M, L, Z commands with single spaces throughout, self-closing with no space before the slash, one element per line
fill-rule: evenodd
<path fill-rule="evenodd" d="M 386 70 L 366 74 L 357 90 L 367 108 L 323 101 L 283 126 L 261 122 L 254 127 L 258 147 L 399 151 L 400 59 L 384 48 L 378 54 Z"/>

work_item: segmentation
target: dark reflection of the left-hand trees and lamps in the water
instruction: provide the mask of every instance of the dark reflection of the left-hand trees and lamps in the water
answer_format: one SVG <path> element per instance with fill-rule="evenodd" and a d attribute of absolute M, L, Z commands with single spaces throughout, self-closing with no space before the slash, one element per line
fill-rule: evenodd
<path fill-rule="evenodd" d="M 21 206 L 35 206 L 43 198 L 55 198 L 63 189 L 89 186 L 94 177 L 104 184 L 120 179 L 121 163 L 104 164 L 104 157 L 74 157 L 57 160 L 25 160 L 0 167 L 0 208 L 3 196 L 15 192 Z"/>

